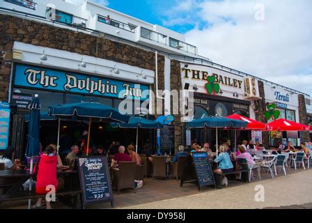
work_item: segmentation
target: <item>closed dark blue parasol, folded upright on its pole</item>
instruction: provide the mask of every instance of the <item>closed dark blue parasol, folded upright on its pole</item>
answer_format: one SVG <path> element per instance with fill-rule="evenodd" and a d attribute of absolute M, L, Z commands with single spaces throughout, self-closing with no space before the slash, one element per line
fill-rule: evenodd
<path fill-rule="evenodd" d="M 29 132 L 26 146 L 26 156 L 32 157 L 39 155 L 40 143 L 39 143 L 39 123 L 40 123 L 40 102 L 38 95 L 35 95 L 31 104 L 29 105 L 31 110 L 29 113 Z"/>

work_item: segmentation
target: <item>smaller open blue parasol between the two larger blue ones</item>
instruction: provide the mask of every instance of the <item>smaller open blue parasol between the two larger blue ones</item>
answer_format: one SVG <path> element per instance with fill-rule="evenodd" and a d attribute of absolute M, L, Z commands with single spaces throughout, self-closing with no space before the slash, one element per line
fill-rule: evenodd
<path fill-rule="evenodd" d="M 131 117 L 128 123 L 111 123 L 114 128 L 163 128 L 164 125 L 157 121 L 149 120 L 142 117 Z"/>

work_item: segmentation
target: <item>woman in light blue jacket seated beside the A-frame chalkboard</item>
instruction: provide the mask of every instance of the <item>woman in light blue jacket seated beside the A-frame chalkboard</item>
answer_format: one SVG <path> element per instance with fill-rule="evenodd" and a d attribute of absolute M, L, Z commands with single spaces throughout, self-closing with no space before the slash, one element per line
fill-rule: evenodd
<path fill-rule="evenodd" d="M 214 172 L 216 173 L 229 173 L 234 170 L 233 164 L 231 162 L 230 155 L 227 153 L 227 148 L 224 145 L 219 147 L 219 155 L 215 158 L 214 162 L 219 163 L 219 168 L 216 169 Z M 222 178 L 221 181 L 222 185 L 228 185 L 228 178 L 225 176 Z"/>

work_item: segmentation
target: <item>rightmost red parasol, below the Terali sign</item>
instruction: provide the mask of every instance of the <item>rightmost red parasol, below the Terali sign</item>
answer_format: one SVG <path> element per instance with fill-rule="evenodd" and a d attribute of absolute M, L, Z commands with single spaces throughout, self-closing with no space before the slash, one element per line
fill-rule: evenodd
<path fill-rule="evenodd" d="M 309 126 L 301 123 L 295 123 L 283 118 L 267 123 L 269 131 L 309 131 Z"/>

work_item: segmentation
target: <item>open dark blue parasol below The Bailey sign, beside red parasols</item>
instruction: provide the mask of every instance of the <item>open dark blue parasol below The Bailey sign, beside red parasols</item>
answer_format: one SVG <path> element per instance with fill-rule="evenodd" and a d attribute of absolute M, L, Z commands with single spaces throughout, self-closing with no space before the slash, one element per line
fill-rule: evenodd
<path fill-rule="evenodd" d="M 189 128 L 246 128 L 247 124 L 246 121 L 214 116 L 190 121 L 187 126 Z"/>

